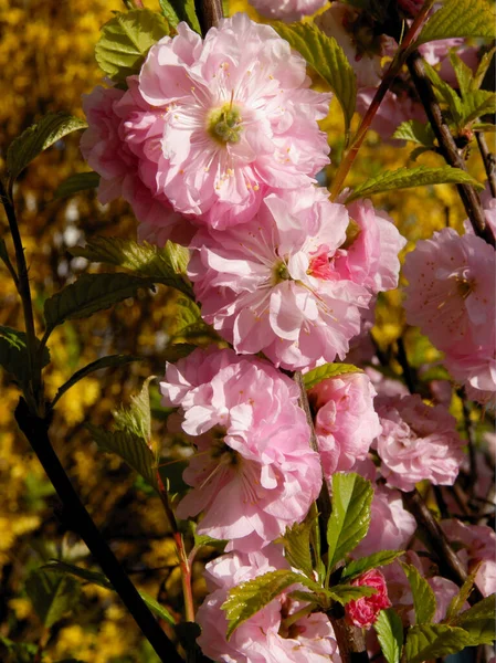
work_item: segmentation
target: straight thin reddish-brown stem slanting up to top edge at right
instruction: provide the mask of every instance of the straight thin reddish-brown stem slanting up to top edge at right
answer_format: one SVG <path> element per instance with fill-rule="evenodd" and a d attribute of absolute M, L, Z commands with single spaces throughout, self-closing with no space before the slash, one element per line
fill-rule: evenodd
<path fill-rule="evenodd" d="M 346 177 L 348 176 L 348 172 L 350 171 L 351 166 L 353 165 L 353 161 L 357 157 L 358 150 L 360 149 L 361 144 L 363 143 L 363 139 L 367 135 L 367 131 L 370 128 L 372 119 L 374 118 L 376 113 L 378 112 L 379 106 L 381 105 L 381 102 L 386 96 L 386 93 L 391 87 L 394 78 L 400 73 L 401 67 L 403 66 L 408 56 L 408 49 L 412 43 L 413 39 L 416 36 L 416 33 L 419 32 L 423 21 L 425 20 L 425 17 L 431 11 L 433 4 L 434 0 L 428 0 L 426 2 L 424 2 L 424 6 L 415 17 L 415 20 L 413 21 L 412 25 L 407 32 L 404 39 L 401 41 L 400 46 L 397 53 L 394 54 L 393 61 L 391 62 L 388 71 L 386 72 L 381 84 L 377 88 L 372 103 L 370 104 L 367 113 L 361 119 L 360 126 L 358 127 L 357 133 L 355 134 L 355 137 L 351 141 L 348 151 L 346 152 L 342 161 L 339 164 L 339 168 L 336 172 L 333 187 L 330 189 L 330 200 L 336 200 L 336 198 L 339 196 L 345 183 Z"/>

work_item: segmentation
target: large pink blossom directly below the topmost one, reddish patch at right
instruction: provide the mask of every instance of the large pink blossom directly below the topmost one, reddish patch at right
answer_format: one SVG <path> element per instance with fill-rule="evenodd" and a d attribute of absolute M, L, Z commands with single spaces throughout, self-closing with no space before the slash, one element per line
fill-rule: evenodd
<path fill-rule="evenodd" d="M 268 196 L 251 223 L 200 231 L 189 276 L 204 319 L 238 352 L 306 368 L 348 351 L 371 294 L 334 265 L 348 214 L 309 187 Z"/>

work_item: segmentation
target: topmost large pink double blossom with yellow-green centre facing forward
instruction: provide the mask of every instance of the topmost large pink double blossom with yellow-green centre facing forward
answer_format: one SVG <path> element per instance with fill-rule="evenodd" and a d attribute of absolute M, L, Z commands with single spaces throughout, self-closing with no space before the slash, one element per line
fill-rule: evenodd
<path fill-rule="evenodd" d="M 245 14 L 204 41 L 186 23 L 177 30 L 148 53 L 139 94 L 149 110 L 127 120 L 127 139 L 154 194 L 198 223 L 229 228 L 274 188 L 308 185 L 329 162 L 317 126 L 329 95 L 309 90 L 304 59 Z"/>

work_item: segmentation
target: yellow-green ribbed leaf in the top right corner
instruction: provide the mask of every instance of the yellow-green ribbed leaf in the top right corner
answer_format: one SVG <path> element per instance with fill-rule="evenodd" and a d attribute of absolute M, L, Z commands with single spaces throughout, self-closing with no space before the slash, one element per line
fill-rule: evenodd
<path fill-rule="evenodd" d="M 495 14 L 487 0 L 446 0 L 425 23 L 412 49 L 452 36 L 495 36 Z"/>

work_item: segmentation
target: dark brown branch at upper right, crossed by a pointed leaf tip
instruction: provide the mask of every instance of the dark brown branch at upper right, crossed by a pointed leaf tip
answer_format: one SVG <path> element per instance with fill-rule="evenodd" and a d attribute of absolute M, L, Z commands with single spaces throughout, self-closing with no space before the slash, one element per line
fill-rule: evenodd
<path fill-rule="evenodd" d="M 423 60 L 419 51 L 413 51 L 410 54 L 407 64 L 446 164 L 453 168 L 461 168 L 466 171 L 465 162 L 458 152 L 450 127 L 444 122 L 443 114 L 441 113 L 440 105 L 434 96 L 431 82 L 425 73 Z M 495 238 L 486 224 L 484 211 L 476 190 L 471 185 L 457 185 L 457 189 L 468 219 L 474 228 L 474 232 L 494 246 Z"/>

